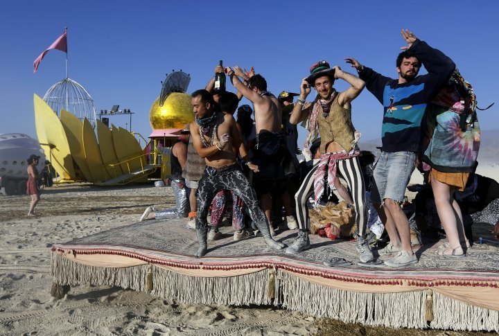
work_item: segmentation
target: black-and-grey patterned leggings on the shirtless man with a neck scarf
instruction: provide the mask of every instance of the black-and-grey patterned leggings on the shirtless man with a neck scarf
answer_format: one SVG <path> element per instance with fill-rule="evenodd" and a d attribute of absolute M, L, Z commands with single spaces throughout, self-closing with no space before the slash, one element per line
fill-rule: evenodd
<path fill-rule="evenodd" d="M 204 170 L 198 185 L 198 191 L 196 191 L 196 198 L 198 199 L 196 229 L 206 229 L 208 227 L 207 215 L 211 201 L 219 191 L 223 190 L 234 192 L 234 195 L 246 204 L 253 222 L 267 222 L 253 186 L 241 171 L 240 166 L 235 163 L 222 168 L 207 166 Z"/>

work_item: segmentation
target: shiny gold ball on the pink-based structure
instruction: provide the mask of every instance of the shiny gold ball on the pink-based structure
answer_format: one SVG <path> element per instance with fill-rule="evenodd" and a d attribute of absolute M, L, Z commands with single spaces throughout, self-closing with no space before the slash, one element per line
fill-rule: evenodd
<path fill-rule="evenodd" d="M 159 97 L 152 103 L 149 121 L 152 130 L 182 128 L 194 120 L 191 96 L 180 92 L 172 92 L 166 97 L 163 106 L 159 106 Z"/>

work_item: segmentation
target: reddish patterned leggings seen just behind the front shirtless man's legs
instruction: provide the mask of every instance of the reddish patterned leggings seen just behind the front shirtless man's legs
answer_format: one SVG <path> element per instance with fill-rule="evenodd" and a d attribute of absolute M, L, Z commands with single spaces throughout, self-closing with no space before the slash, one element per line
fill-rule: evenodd
<path fill-rule="evenodd" d="M 234 230 L 241 230 L 244 228 L 244 202 L 234 195 L 234 191 L 219 191 L 213 198 L 211 204 L 211 229 L 218 229 L 218 225 L 222 222 L 223 215 L 227 210 L 227 201 L 232 197 L 232 227 Z"/>

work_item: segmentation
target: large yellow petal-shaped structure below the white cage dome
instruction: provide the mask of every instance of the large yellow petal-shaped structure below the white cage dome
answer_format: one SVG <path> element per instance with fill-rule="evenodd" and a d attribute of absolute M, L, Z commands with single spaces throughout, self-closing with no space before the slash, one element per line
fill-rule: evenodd
<path fill-rule="evenodd" d="M 87 118 L 80 121 L 63 109 L 59 119 L 42 98 L 35 94 L 33 100 L 38 140 L 60 182 L 127 184 L 145 181 L 160 168 L 146 164 L 139 141 L 127 130 L 114 126 L 109 130 L 96 121 L 97 139 Z"/>

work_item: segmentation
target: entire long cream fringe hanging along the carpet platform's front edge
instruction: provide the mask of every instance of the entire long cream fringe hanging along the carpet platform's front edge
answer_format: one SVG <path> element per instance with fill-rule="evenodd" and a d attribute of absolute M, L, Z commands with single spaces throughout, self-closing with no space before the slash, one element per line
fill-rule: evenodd
<path fill-rule="evenodd" d="M 145 264 L 107 268 L 77 263 L 52 253 L 52 275 L 59 285 L 119 286 L 164 299 L 204 305 L 283 306 L 315 317 L 392 328 L 487 330 L 499 332 L 499 311 L 469 305 L 435 290 L 362 293 L 306 281 L 281 269 L 228 277 L 188 276 Z M 273 297 L 273 298 L 272 298 Z"/>

